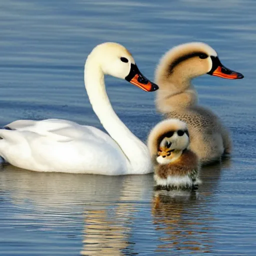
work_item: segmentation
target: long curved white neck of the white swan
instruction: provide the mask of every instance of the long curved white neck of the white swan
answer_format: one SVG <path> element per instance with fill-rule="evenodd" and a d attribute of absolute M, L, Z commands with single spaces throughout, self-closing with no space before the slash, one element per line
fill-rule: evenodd
<path fill-rule="evenodd" d="M 129 172 L 134 174 L 151 172 L 150 156 L 146 145 L 124 125 L 114 112 L 106 94 L 104 74 L 97 62 L 90 57 L 87 58 L 84 67 L 84 83 L 94 112 L 125 154 Z"/>

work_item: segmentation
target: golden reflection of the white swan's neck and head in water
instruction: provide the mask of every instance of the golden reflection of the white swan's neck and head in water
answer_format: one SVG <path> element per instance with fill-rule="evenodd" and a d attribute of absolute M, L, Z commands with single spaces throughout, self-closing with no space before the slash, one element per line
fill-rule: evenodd
<path fill-rule="evenodd" d="M 119 200 L 110 204 L 92 203 L 84 213 L 82 255 L 135 255 L 130 241 L 136 202 L 143 199 L 143 191 L 152 187 L 152 175 L 126 176 Z M 92 208 L 92 209 L 90 209 Z M 95 209 L 97 208 L 97 209 Z M 99 209 L 98 209 L 99 208 Z"/>

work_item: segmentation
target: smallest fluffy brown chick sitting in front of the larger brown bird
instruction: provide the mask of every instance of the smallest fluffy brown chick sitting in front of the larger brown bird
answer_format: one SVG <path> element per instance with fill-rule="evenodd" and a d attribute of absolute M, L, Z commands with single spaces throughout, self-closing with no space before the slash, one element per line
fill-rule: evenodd
<path fill-rule="evenodd" d="M 178 119 L 159 122 L 148 136 L 157 189 L 192 189 L 200 183 L 198 157 L 187 149 L 187 126 Z"/>

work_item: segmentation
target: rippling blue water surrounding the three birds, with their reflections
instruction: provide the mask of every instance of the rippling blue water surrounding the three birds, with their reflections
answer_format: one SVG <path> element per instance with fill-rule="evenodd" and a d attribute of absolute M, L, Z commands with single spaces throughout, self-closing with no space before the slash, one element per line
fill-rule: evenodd
<path fill-rule="evenodd" d="M 209 43 L 224 65 L 245 76 L 194 81 L 200 102 L 222 117 L 234 141 L 231 159 L 202 170 L 196 193 L 154 192 L 151 174 L 3 166 L 1 254 L 255 255 L 255 12 L 253 0 L 1 1 L 0 125 L 59 117 L 101 128 L 84 90 L 83 64 L 103 41 L 124 44 L 149 78 L 166 50 L 194 40 Z M 145 139 L 160 119 L 154 94 L 114 78 L 106 83 L 118 115 Z"/>

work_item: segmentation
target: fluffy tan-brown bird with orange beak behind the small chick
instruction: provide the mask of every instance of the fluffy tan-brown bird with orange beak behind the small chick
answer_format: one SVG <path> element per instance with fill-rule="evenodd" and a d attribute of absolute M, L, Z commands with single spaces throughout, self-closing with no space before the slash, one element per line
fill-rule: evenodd
<path fill-rule="evenodd" d="M 211 74 L 228 79 L 243 75 L 224 67 L 214 49 L 201 42 L 178 45 L 160 59 L 155 81 L 159 85 L 156 108 L 166 118 L 178 118 L 187 123 L 190 149 L 201 164 L 219 160 L 231 151 L 228 130 L 211 110 L 197 105 L 197 93 L 191 79 Z"/>

